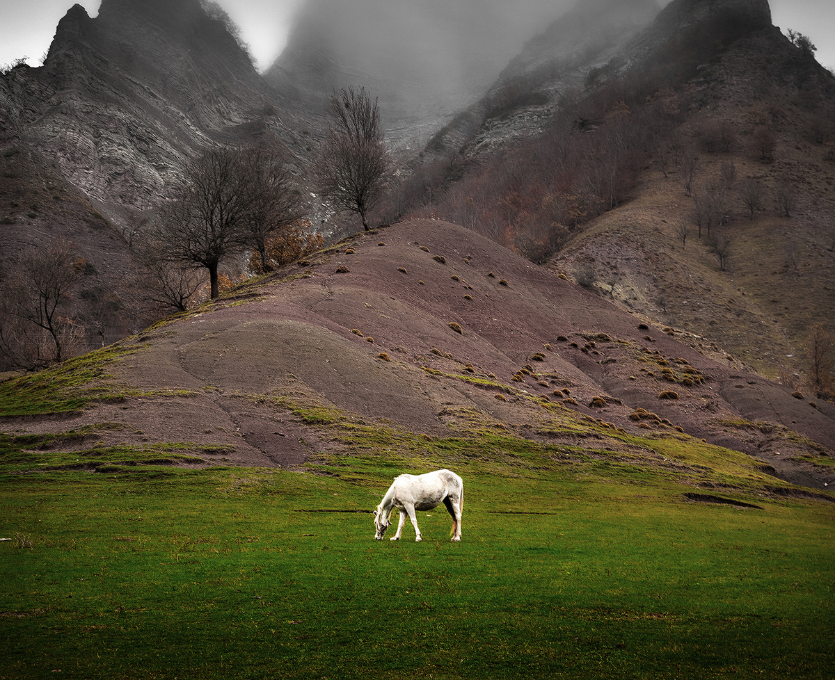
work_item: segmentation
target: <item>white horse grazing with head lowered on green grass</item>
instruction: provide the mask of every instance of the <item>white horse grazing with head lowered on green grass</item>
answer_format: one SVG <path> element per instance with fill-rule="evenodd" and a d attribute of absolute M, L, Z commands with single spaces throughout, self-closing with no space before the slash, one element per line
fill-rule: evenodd
<path fill-rule="evenodd" d="M 388 487 L 386 495 L 382 497 L 380 505 L 374 511 L 374 526 L 377 533 L 374 538 L 382 541 L 382 535 L 391 526 L 392 510 L 400 511 L 400 522 L 397 533 L 392 541 L 400 539 L 400 532 L 406 524 L 406 516 L 412 520 L 417 534 L 415 541 L 421 540 L 420 529 L 417 528 L 416 510 L 432 510 L 441 503 L 446 506 L 453 518 L 453 530 L 450 532 L 453 541 L 461 540 L 461 511 L 464 506 L 464 483 L 458 475 L 448 470 L 436 470 L 425 475 L 401 475 L 392 486 Z"/>

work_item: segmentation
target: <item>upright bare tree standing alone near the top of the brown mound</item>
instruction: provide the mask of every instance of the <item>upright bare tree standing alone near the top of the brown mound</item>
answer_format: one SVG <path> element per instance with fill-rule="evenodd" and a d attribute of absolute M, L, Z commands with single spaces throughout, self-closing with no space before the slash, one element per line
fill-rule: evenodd
<path fill-rule="evenodd" d="M 382 197 L 392 165 L 377 99 L 365 88 L 342 89 L 331 95 L 330 111 L 315 170 L 320 191 L 337 210 L 357 213 L 367 231 L 367 213 Z"/>

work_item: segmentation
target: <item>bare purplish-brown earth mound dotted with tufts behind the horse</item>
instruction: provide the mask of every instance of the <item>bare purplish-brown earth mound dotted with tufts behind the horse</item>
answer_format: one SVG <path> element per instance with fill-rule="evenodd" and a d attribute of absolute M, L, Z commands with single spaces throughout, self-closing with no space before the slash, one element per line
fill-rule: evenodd
<path fill-rule="evenodd" d="M 832 450 L 831 405 L 812 408 L 706 340 L 650 326 L 438 220 L 356 234 L 122 346 L 133 353 L 109 372 L 138 396 L 19 425 L 107 422 L 117 425 L 105 442 L 190 441 L 269 466 L 331 446 L 299 405 L 426 436 L 488 426 L 582 446 L 570 426 L 580 418 L 704 437 L 792 481 L 832 481 L 787 460 Z"/>

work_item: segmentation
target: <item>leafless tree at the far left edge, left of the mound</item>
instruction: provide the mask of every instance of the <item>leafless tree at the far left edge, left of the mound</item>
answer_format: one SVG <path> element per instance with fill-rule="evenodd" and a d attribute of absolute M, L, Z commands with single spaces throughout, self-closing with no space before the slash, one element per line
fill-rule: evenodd
<path fill-rule="evenodd" d="M 0 293 L 0 352 L 8 365 L 43 368 L 71 355 L 83 338 L 69 313 L 79 276 L 73 248 L 63 240 L 13 260 Z"/>

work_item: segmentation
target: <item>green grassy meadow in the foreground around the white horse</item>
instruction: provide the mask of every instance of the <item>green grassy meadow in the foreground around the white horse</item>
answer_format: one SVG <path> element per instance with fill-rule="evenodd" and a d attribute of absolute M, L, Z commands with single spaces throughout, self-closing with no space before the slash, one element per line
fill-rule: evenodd
<path fill-rule="evenodd" d="M 692 502 L 669 471 L 510 437 L 415 438 L 409 465 L 389 437 L 306 471 L 139 451 L 19 474 L 39 454 L 4 436 L 0 677 L 832 677 L 832 503 Z M 374 541 L 392 476 L 443 465 L 463 541 L 443 507 L 422 543 Z"/>

